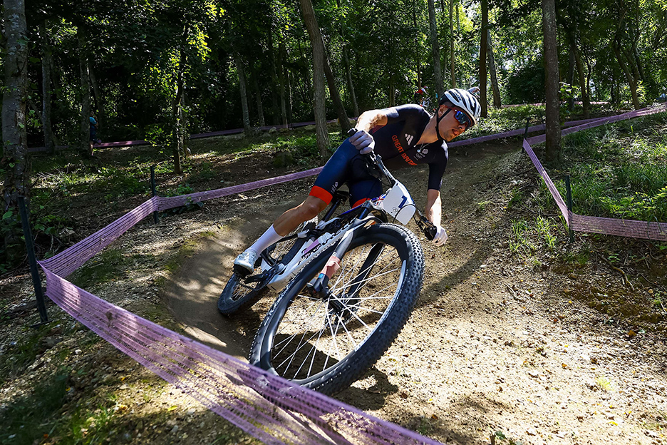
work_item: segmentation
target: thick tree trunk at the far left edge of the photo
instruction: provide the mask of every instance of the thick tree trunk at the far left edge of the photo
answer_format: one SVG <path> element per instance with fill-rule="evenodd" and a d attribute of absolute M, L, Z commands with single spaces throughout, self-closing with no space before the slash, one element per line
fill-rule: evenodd
<path fill-rule="evenodd" d="M 4 170 L 2 214 L 10 211 L 18 215 L 19 196 L 29 195 L 29 171 L 26 169 L 26 98 L 28 96 L 28 39 L 24 0 L 4 0 L 3 55 L 4 88 L 2 95 L 2 157 L 0 169 Z M 16 221 L 19 217 L 15 217 Z M 4 247 L 9 257 L 9 247 L 19 240 L 19 233 L 8 231 Z M 18 254 L 18 252 L 16 252 Z"/>

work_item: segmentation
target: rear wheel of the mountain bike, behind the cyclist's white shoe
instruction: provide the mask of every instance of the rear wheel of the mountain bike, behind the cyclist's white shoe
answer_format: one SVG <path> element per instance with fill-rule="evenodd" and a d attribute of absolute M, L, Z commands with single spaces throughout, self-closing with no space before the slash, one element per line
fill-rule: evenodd
<path fill-rule="evenodd" d="M 299 227 L 292 230 L 289 235 L 294 235 L 294 233 L 306 230 L 306 228 L 315 227 L 316 224 L 317 217 L 306 221 L 305 223 L 301 223 Z M 305 238 L 293 238 L 291 240 L 279 241 L 274 245 L 267 247 L 267 250 L 264 250 L 264 253 L 274 262 L 281 262 L 284 260 L 289 261 L 291 260 L 291 257 L 294 257 L 296 250 L 299 250 L 299 247 L 304 245 L 305 241 Z M 264 265 L 264 270 L 262 265 Z M 236 272 L 233 272 L 218 298 L 217 307 L 219 312 L 225 315 L 233 314 L 240 310 L 246 310 L 259 300 L 262 300 L 262 297 L 269 293 L 267 283 L 272 276 L 264 277 L 262 280 L 257 279 L 262 272 L 266 272 L 267 266 L 270 267 L 272 265 L 267 265 L 266 262 L 262 262 L 262 257 L 260 256 L 257 259 L 257 262 L 255 262 L 254 271 L 251 275 L 242 277 Z"/>

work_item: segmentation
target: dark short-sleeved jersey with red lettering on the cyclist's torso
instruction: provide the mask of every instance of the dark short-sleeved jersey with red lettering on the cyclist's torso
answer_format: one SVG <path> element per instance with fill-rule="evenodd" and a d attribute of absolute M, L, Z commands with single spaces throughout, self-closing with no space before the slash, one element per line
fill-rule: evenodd
<path fill-rule="evenodd" d="M 375 140 L 375 152 L 382 156 L 387 168 L 403 168 L 408 165 L 428 164 L 428 188 L 440 190 L 448 153 L 445 141 L 418 144 L 430 115 L 424 108 L 408 104 L 387 108 L 387 125 L 371 130 Z"/>

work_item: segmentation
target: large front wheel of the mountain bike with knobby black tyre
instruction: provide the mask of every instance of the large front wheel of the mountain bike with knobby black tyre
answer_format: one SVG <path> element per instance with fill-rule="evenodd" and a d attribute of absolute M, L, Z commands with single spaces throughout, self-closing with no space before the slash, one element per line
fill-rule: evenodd
<path fill-rule="evenodd" d="M 279 295 L 249 360 L 303 386 L 334 394 L 373 366 L 398 337 L 421 290 L 424 254 L 405 227 L 356 232 L 321 297 L 311 290 L 331 255 L 321 252 Z"/>

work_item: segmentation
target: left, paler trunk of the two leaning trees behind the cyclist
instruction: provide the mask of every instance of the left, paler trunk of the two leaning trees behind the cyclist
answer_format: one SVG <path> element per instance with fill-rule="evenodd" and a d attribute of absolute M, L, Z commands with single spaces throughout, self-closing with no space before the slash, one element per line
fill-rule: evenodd
<path fill-rule="evenodd" d="M 329 148 L 329 133 L 326 131 L 326 108 L 324 101 L 324 41 L 320 33 L 315 11 L 311 0 L 299 0 L 301 14 L 304 16 L 304 24 L 310 36 L 313 48 L 313 89 L 314 89 L 314 113 L 315 113 L 315 135 L 317 148 L 322 159 L 326 158 Z"/>

